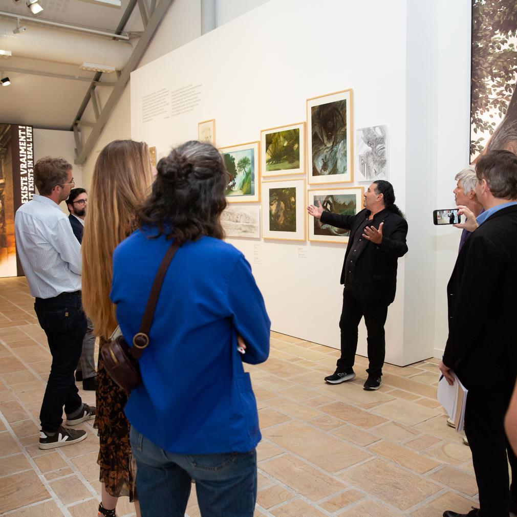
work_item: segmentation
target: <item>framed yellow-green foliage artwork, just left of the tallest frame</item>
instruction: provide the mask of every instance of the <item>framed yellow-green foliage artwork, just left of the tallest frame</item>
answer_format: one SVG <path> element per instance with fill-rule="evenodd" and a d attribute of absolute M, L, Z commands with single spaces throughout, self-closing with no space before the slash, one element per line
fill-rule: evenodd
<path fill-rule="evenodd" d="M 305 122 L 261 131 L 262 177 L 305 173 Z"/>

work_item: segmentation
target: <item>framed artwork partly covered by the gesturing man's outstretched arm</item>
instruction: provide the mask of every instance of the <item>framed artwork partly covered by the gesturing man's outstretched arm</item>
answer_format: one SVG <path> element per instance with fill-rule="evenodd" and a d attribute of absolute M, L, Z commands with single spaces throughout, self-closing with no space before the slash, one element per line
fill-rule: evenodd
<path fill-rule="evenodd" d="M 343 216 L 355 216 L 363 209 L 363 187 L 348 187 L 342 189 L 310 189 L 309 205 L 318 206 Z M 309 240 L 315 242 L 340 242 L 346 244 L 350 236 L 349 230 L 343 230 L 330 224 L 323 224 L 320 219 L 309 216 Z"/>

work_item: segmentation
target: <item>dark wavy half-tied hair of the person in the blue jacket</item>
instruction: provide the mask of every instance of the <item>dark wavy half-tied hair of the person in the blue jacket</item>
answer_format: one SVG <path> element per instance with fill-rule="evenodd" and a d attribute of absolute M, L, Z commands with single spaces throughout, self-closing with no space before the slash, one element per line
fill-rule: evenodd
<path fill-rule="evenodd" d="M 158 162 L 151 195 L 138 213 L 140 227 L 183 244 L 204 235 L 222 239 L 221 212 L 229 182 L 219 151 L 212 145 L 186 142 Z"/>

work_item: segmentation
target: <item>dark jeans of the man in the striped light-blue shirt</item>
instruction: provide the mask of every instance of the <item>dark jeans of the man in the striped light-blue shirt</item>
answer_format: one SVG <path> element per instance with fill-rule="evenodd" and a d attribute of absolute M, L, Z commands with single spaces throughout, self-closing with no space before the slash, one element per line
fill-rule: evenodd
<path fill-rule="evenodd" d="M 86 333 L 81 291 L 62 293 L 54 298 L 36 298 L 34 310 L 47 334 L 52 366 L 39 419 L 43 431 L 57 431 L 63 423 L 63 406 L 70 414 L 82 404 L 75 386 L 74 371 L 81 356 Z"/>

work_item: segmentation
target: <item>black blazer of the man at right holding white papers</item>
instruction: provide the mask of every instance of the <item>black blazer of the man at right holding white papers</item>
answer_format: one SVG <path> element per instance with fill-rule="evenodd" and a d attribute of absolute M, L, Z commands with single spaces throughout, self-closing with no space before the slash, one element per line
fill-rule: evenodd
<path fill-rule="evenodd" d="M 444 364 L 468 389 L 513 386 L 517 374 L 517 205 L 473 232 L 447 285 L 449 336 Z"/>

